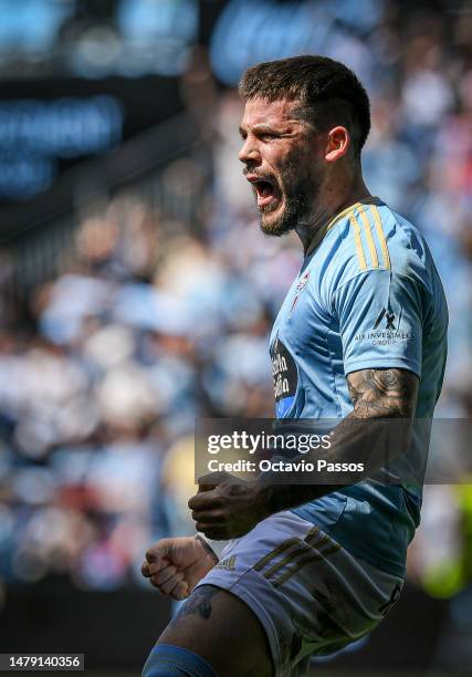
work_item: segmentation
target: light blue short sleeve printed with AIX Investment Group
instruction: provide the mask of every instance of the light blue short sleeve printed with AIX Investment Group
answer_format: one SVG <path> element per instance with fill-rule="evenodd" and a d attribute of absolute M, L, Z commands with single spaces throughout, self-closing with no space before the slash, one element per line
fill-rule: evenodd
<path fill-rule="evenodd" d="M 389 270 L 357 274 L 333 294 L 344 372 L 398 367 L 421 376 L 424 292 Z"/>

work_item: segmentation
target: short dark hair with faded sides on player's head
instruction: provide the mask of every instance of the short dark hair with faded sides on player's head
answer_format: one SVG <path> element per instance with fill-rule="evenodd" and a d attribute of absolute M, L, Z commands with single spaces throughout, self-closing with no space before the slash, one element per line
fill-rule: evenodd
<path fill-rule="evenodd" d="M 291 56 L 248 69 L 239 83 L 244 100 L 300 101 L 298 115 L 321 132 L 342 124 L 350 132 L 356 157 L 370 129 L 366 90 L 347 66 L 327 56 Z"/>

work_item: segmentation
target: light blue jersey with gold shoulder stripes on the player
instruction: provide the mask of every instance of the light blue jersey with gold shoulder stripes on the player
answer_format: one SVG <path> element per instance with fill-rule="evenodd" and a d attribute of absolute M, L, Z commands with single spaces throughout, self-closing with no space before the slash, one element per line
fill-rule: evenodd
<path fill-rule="evenodd" d="M 398 367 L 420 378 L 431 418 L 447 355 L 448 309 L 418 230 L 378 198 L 337 215 L 312 242 L 271 335 L 277 418 L 344 418 L 346 375 Z M 421 492 L 363 482 L 294 510 L 353 554 L 395 575 L 419 524 Z"/>

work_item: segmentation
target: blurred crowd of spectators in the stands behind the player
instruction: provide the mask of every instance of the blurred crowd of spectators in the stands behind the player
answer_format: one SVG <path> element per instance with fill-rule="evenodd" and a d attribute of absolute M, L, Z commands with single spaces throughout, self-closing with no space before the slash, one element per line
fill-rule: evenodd
<path fill-rule="evenodd" d="M 370 191 L 424 232 L 445 287 L 437 416 L 471 417 L 472 11 L 431 3 L 406 22 L 401 3 L 381 7 L 361 31 L 339 28 L 329 55 L 371 97 Z M 197 186 L 200 227 L 129 187 L 81 215 L 61 272 L 31 290 L 28 319 L 1 325 L 6 582 L 139 584 L 146 548 L 192 530 L 195 418 L 273 413 L 268 334 L 301 247 L 259 231 L 237 159 L 241 102 L 218 91 L 201 49 L 181 87 L 208 152 L 174 160 L 161 180 L 181 201 Z M 409 571 L 431 594 L 471 580 L 471 506 L 466 485 L 426 488 Z"/>

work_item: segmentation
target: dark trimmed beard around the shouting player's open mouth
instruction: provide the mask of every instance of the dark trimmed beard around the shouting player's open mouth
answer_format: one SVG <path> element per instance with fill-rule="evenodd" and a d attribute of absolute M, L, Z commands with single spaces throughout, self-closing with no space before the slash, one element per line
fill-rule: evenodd
<path fill-rule="evenodd" d="M 310 211 L 319 192 L 321 181 L 310 170 L 303 177 L 297 176 L 298 171 L 300 166 L 297 169 L 294 160 L 287 163 L 283 170 L 281 176 L 284 186 L 282 209 L 280 202 L 274 207 L 268 205 L 259 209 L 259 225 L 265 235 L 280 238 L 310 218 Z M 276 218 L 270 221 L 264 219 L 264 215 L 270 215 L 277 209 L 281 209 L 281 212 Z"/>

